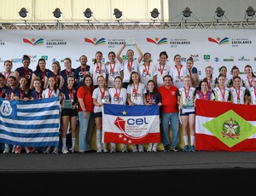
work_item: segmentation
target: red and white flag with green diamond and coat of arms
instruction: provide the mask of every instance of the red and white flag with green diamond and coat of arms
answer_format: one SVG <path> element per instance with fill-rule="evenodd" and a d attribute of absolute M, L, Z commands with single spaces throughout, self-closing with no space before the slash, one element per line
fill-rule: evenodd
<path fill-rule="evenodd" d="M 256 151 L 256 106 L 196 100 L 195 149 Z"/>

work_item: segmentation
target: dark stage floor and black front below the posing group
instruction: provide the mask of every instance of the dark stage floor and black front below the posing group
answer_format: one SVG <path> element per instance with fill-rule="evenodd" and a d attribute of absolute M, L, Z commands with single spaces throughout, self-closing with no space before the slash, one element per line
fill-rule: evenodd
<path fill-rule="evenodd" d="M 254 152 L 1 153 L 0 160 L 3 195 L 32 191 L 27 187 L 38 188 L 34 195 L 79 189 L 114 195 L 197 193 L 203 187 L 209 193 L 220 188 L 251 193 L 256 184 Z"/>

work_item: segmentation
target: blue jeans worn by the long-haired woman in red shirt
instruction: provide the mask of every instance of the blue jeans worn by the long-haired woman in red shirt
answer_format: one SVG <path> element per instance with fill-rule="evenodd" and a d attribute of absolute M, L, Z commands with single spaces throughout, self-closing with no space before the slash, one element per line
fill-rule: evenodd
<path fill-rule="evenodd" d="M 79 152 L 90 151 L 90 138 L 93 131 L 93 113 L 87 112 L 87 118 L 84 118 L 84 112 L 79 112 Z"/>

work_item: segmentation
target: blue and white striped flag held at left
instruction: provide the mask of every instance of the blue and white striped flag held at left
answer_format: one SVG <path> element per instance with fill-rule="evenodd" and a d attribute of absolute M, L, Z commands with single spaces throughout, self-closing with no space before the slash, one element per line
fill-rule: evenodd
<path fill-rule="evenodd" d="M 0 98 L 0 143 L 21 147 L 59 145 L 58 97 L 33 101 Z"/>

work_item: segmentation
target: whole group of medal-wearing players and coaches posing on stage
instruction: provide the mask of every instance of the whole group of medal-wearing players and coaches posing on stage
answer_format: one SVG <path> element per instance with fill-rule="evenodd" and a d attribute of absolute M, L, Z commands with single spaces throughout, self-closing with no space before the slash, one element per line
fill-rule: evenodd
<path fill-rule="evenodd" d="M 236 104 L 256 104 L 256 77 L 252 66 L 244 66 L 246 76 L 233 66 L 231 77 L 227 67 L 219 68 L 217 78 L 212 78 L 212 66 L 205 68 L 205 78 L 199 79 L 193 58 L 182 64 L 181 55 L 168 61 L 166 51 L 160 52 L 159 61 L 152 63 L 150 53 L 134 45 L 127 49 L 125 60 L 121 57 L 125 44 L 117 53 L 108 53 L 108 61 L 102 62 L 102 52 L 97 51 L 95 61 L 88 65 L 87 56 L 81 55 L 80 65 L 73 68 L 70 58 L 64 59 L 61 70 L 58 61 L 46 67 L 44 59 L 38 60 L 36 70 L 29 68 L 31 60 L 24 55 L 22 66 L 13 71 L 12 61 L 4 61 L 4 72 L 0 73 L 0 96 L 6 100 L 31 101 L 58 96 L 60 99 L 60 145 L 42 147 L 42 153 L 75 153 L 78 142 L 79 153 L 89 153 L 91 138 L 96 129 L 96 152 L 115 153 L 116 143 L 102 143 L 103 104 L 158 105 L 160 107 L 160 142 L 164 152 L 195 152 L 195 101 L 230 101 Z M 72 102 L 66 107 L 65 101 Z M 79 123 L 78 123 L 79 122 Z M 182 128 L 183 138 L 179 136 Z M 78 131 L 77 131 L 78 129 Z M 67 147 L 67 133 L 71 141 Z M 170 138 L 172 131 L 172 139 Z M 76 135 L 78 134 L 78 135 Z M 78 138 L 78 139 L 76 139 Z M 78 140 L 78 141 L 76 141 Z M 183 141 L 183 147 L 180 144 Z M 159 143 L 134 144 L 131 151 L 157 152 Z M 20 147 L 3 144 L 3 153 L 38 153 L 39 147 Z M 121 152 L 128 152 L 125 143 Z"/>

